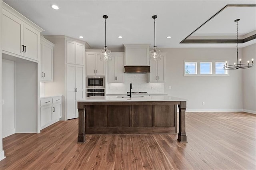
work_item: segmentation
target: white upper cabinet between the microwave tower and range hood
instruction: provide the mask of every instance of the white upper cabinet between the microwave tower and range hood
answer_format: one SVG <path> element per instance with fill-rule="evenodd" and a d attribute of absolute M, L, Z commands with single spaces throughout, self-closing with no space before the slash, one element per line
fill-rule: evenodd
<path fill-rule="evenodd" d="M 124 83 L 124 53 L 113 52 L 108 61 L 108 83 Z"/>

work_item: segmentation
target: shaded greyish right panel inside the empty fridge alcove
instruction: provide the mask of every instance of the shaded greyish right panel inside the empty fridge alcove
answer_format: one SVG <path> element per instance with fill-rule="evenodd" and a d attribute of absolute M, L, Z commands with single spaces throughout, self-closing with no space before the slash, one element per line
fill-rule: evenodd
<path fill-rule="evenodd" d="M 15 65 L 16 133 L 36 133 L 38 64 L 31 61 L 16 61 Z"/>

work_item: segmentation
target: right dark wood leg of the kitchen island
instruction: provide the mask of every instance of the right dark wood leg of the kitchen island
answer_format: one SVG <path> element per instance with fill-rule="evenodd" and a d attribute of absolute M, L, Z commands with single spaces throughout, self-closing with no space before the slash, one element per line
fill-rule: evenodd
<path fill-rule="evenodd" d="M 187 143 L 186 136 L 186 119 L 185 119 L 185 111 L 186 111 L 186 101 L 181 101 L 179 107 L 179 133 L 178 133 L 178 141 Z"/>

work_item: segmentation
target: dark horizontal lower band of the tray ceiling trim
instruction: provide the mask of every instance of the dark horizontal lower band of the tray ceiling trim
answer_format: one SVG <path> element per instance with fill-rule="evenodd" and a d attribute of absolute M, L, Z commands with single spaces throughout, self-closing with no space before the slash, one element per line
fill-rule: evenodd
<path fill-rule="evenodd" d="M 240 39 L 238 40 L 238 43 L 246 43 L 248 41 L 254 40 L 256 39 L 256 34 L 248 37 L 248 38 L 244 38 L 244 39 Z M 184 40 L 182 43 L 236 43 L 236 40 Z"/>

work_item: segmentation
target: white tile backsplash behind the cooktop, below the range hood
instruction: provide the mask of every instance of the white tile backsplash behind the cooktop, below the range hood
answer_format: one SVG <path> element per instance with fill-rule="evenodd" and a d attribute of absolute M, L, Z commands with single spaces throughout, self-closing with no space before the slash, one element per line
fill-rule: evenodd
<path fill-rule="evenodd" d="M 164 93 L 164 83 L 148 83 L 148 74 L 124 74 L 125 83 L 108 83 L 107 93 L 126 93 L 130 91 L 143 91 L 148 93 Z"/>

